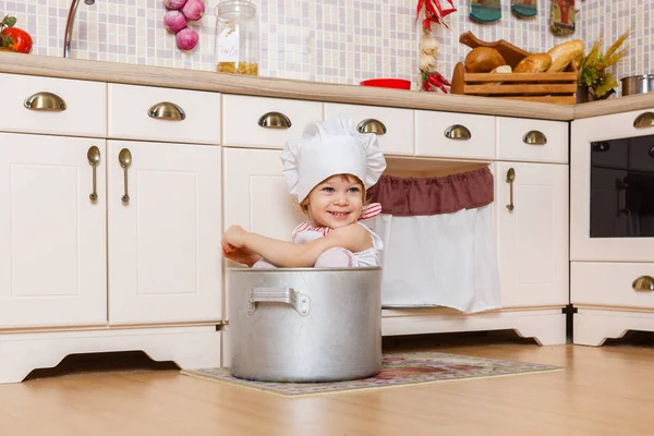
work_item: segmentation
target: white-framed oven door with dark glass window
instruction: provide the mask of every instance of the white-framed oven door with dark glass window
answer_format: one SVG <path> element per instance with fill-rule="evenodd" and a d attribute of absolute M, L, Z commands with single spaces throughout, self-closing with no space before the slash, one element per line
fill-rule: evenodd
<path fill-rule="evenodd" d="M 654 122 L 635 126 L 639 116 L 654 119 L 572 122 L 571 261 L 654 262 Z"/>

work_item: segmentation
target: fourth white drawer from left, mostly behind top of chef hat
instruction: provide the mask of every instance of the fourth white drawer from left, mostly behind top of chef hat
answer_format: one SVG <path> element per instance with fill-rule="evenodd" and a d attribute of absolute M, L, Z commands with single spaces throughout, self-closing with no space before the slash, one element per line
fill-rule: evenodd
<path fill-rule="evenodd" d="M 364 123 L 385 128 L 379 134 L 379 147 L 386 155 L 413 155 L 413 110 L 325 104 L 325 119 L 348 114 L 363 128 Z M 380 124 L 376 124 L 378 121 Z"/>

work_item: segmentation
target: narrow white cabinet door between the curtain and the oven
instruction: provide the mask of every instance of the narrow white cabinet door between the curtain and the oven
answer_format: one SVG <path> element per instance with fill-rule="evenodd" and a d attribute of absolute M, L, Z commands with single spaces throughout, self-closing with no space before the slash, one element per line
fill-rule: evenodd
<path fill-rule="evenodd" d="M 502 306 L 568 304 L 568 166 L 500 161 L 495 180 Z"/>

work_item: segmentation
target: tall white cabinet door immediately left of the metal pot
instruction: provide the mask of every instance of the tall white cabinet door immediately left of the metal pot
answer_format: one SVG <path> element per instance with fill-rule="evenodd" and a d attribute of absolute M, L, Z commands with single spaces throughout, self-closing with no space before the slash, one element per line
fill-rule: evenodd
<path fill-rule="evenodd" d="M 220 148 L 123 141 L 108 148 L 109 322 L 220 319 Z"/>

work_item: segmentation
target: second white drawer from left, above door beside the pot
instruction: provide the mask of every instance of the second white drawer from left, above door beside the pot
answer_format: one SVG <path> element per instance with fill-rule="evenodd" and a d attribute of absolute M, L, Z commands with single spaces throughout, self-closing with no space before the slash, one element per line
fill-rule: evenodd
<path fill-rule="evenodd" d="M 220 94 L 109 84 L 109 137 L 220 144 Z"/>

